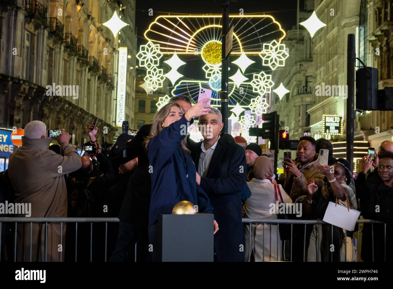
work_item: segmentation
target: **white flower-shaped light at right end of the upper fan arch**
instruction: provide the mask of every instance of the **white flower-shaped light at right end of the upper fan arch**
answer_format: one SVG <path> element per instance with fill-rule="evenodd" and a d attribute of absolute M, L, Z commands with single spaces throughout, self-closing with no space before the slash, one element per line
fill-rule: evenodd
<path fill-rule="evenodd" d="M 263 50 L 259 56 L 262 58 L 262 65 L 275 70 L 278 66 L 284 66 L 289 54 L 285 51 L 285 44 L 278 44 L 276 40 L 273 40 L 263 44 Z"/>

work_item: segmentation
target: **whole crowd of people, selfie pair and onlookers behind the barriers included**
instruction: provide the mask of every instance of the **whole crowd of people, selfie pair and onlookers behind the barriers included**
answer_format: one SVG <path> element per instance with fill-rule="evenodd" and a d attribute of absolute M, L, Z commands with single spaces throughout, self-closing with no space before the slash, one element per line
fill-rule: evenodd
<path fill-rule="evenodd" d="M 187 134 L 194 118 L 202 142 Z M 90 124 L 86 132 L 95 150 L 80 156 L 64 129 L 59 145 L 50 145 L 45 124 L 29 122 L 22 146 L 0 178 L 9 184 L 10 201 L 31 203 L 31 217 L 119 217 L 119 223 L 78 223 L 77 230 L 72 222 L 18 223 L 17 261 L 44 261 L 45 253 L 46 261 L 74 261 L 76 255 L 78 261 L 104 261 L 105 246 L 110 261 L 134 260 L 135 247 L 139 261 L 159 261 L 157 250 L 151 250 L 160 243 L 158 214 L 171 214 L 180 201 L 214 215 L 215 261 L 288 260 L 290 242 L 293 261 L 342 261 L 343 242 L 353 232 L 337 226 L 242 224 L 242 217 L 323 219 L 329 202 L 386 223 L 386 238 L 384 224 L 364 225 L 363 261 L 392 256 L 385 242 L 393 232 L 393 142 L 382 142 L 374 160 L 364 156 L 354 179 L 349 162 L 334 158 L 329 140 L 304 136 L 296 158 L 285 158 L 278 176 L 259 145 L 243 149 L 222 128 L 219 110 L 175 96 L 152 124 L 143 125 L 136 136 L 121 134 L 111 149 L 102 147 L 95 137 L 98 128 Z M 320 165 L 320 149 L 329 151 L 327 166 Z M 302 213 L 278 214 L 280 203 L 301 206 Z M 274 213 L 271 204 L 277 205 Z M 13 249 L 5 238 L 14 233 L 8 233 L 2 234 L 2 260 Z M 340 250 L 330 250 L 332 244 Z"/>

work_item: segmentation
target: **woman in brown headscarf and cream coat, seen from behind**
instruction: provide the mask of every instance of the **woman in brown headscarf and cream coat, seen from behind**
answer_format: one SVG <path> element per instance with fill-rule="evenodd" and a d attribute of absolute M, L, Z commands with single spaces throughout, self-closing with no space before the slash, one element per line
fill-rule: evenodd
<path fill-rule="evenodd" d="M 276 190 L 278 203 L 292 203 L 291 198 L 281 185 L 272 184 L 274 173 L 273 164 L 267 156 L 258 156 L 253 166 L 254 177 L 247 182 L 251 197 L 246 200 L 246 217 L 251 219 L 277 219 Z M 251 248 L 248 250 L 250 226 L 245 228 L 245 254 L 250 260 L 251 251 L 255 261 L 281 261 L 281 239 L 277 232 L 277 225 L 251 224 Z M 278 247 L 277 247 L 278 246 Z"/>

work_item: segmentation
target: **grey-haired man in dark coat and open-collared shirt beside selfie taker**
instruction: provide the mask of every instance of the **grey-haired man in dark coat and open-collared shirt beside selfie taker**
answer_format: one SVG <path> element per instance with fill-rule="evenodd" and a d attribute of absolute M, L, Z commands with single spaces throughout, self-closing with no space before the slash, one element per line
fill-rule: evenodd
<path fill-rule="evenodd" d="M 241 192 L 247 178 L 244 149 L 226 133 L 219 110 L 199 117 L 204 140 L 191 147 L 197 168 L 196 182 L 208 194 L 219 223 L 214 235 L 216 261 L 244 261 Z"/>

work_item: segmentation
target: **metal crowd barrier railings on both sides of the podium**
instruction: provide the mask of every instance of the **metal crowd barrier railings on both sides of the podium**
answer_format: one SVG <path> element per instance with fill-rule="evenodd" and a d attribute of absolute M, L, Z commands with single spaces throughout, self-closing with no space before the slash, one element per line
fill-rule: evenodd
<path fill-rule="evenodd" d="M 118 218 L 73 218 L 73 217 L 64 217 L 64 218 L 35 218 L 35 217 L 0 217 L 0 248 L 1 248 L 1 237 L 2 237 L 2 223 L 3 222 L 9 222 L 9 223 L 15 223 L 15 236 L 14 236 L 14 261 L 16 261 L 17 258 L 17 223 L 30 223 L 30 261 L 31 261 L 31 249 L 32 249 L 32 230 L 33 230 L 33 223 L 45 223 L 45 261 L 47 257 L 47 242 L 48 242 L 48 223 L 49 222 L 55 222 L 55 223 L 61 223 L 61 245 L 62 245 L 62 228 L 63 228 L 63 223 L 75 223 L 75 261 L 77 261 L 77 237 L 78 237 L 78 223 L 90 223 L 90 261 L 92 261 L 92 234 L 93 234 L 93 223 L 104 223 L 105 222 L 105 261 L 107 261 L 107 233 L 108 233 L 108 223 L 118 223 L 119 219 Z M 249 239 L 248 239 L 248 256 L 250 256 L 251 252 L 251 225 L 252 224 L 273 224 L 277 225 L 277 254 L 278 256 L 278 240 L 279 240 L 279 225 L 280 224 L 290 224 L 291 225 L 291 239 L 290 239 L 290 261 L 292 261 L 292 237 L 293 237 L 293 225 L 304 225 L 305 232 L 304 236 L 306 237 L 306 227 L 307 225 L 318 225 L 318 229 L 320 228 L 320 225 L 322 224 L 327 224 L 323 221 L 320 220 L 290 220 L 290 219 L 248 219 L 248 218 L 243 218 L 242 223 L 248 224 L 249 226 Z M 368 219 L 358 219 L 356 221 L 357 224 L 371 224 L 371 232 L 372 232 L 372 256 L 373 256 L 373 261 L 374 261 L 374 226 L 373 224 L 375 223 L 382 223 L 379 221 L 374 221 L 374 220 L 368 220 Z M 382 223 L 384 224 L 384 223 Z M 333 228 L 333 225 L 331 225 Z M 385 223 L 385 241 L 384 241 L 384 258 L 386 261 L 386 223 Z M 263 232 L 264 232 L 264 226 L 263 226 Z M 357 243 L 356 243 L 356 251 L 358 251 L 358 245 L 359 245 L 359 228 L 358 228 L 358 235 L 357 235 Z M 347 259 L 347 242 L 346 242 L 346 236 L 347 232 L 345 231 L 344 235 L 344 246 L 345 246 L 345 261 Z M 332 240 L 333 240 L 333 230 L 332 230 Z M 246 241 L 246 240 L 245 240 Z M 333 243 L 333 242 L 332 242 Z M 318 240 L 317 244 L 319 244 L 319 234 L 318 234 Z M 303 261 L 305 261 L 305 246 L 306 246 L 306 238 L 304 238 L 303 242 Z M 263 247 L 264 247 L 264 237 L 263 237 Z M 319 250 L 317 250 L 317 260 L 319 259 Z M 332 256 L 332 254 L 331 254 Z M 135 244 L 135 261 L 136 261 L 136 244 Z M 333 258 L 333 257 L 331 257 Z M 62 261 L 62 254 L 60 255 L 60 261 Z M 264 261 L 264 252 L 263 252 L 263 261 Z M 359 254 L 357 254 L 357 260 L 359 261 Z"/>

